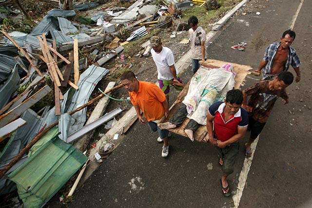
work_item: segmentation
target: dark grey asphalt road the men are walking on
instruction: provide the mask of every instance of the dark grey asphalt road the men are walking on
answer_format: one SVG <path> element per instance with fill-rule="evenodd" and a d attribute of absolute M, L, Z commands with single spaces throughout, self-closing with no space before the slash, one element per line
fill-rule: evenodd
<path fill-rule="evenodd" d="M 292 44 L 302 61 L 302 78 L 287 89 L 289 104 L 284 106 L 277 100 L 253 159 L 245 160 L 248 133 L 241 142 L 234 173 L 228 177 L 232 195 L 237 197 L 235 204 L 232 197 L 222 195 L 221 169 L 214 147 L 173 135 L 169 156 L 162 158 L 157 133 L 136 122 L 117 150 L 74 193 L 73 202 L 60 205 L 54 201 L 47 207 L 230 208 L 237 206 L 237 201 L 239 208 L 311 207 L 312 1 L 302 1 L 293 28 L 297 37 Z M 252 12 L 241 15 L 244 11 L 238 11 L 223 26 L 211 40 L 209 58 L 257 67 L 267 45 L 279 41 L 290 28 L 300 2 L 249 1 L 244 11 L 249 8 Z M 257 11 L 261 14 L 256 15 Z M 248 43 L 245 51 L 230 48 L 242 41 Z M 293 69 L 290 71 L 294 74 Z M 245 87 L 255 79 L 248 76 Z M 248 167 L 245 170 L 248 163 L 249 171 Z M 240 176 L 246 180 L 243 190 L 236 188 Z M 241 197 L 237 196 L 239 191 Z"/>

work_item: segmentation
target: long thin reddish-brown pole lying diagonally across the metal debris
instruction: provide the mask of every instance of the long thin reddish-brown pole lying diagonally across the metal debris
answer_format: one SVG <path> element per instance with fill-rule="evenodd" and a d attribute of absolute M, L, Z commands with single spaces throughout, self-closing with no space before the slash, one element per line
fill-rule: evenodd
<path fill-rule="evenodd" d="M 122 87 L 123 85 L 120 84 L 116 87 L 113 87 L 112 89 L 107 90 L 106 92 L 104 92 L 105 94 L 108 94 L 114 90 L 117 90 L 118 88 Z M 72 112 L 69 112 L 70 115 L 84 109 L 85 107 L 87 107 L 88 105 L 91 105 L 92 103 L 96 102 L 97 100 L 99 100 L 101 97 L 103 97 L 104 94 L 100 94 L 97 97 L 95 97 L 94 99 L 90 100 L 89 102 L 85 103 L 84 105 L 80 106 L 79 108 L 75 109 Z M 29 149 L 41 138 L 41 136 L 43 136 L 45 133 L 49 132 L 53 127 L 55 127 L 56 125 L 59 124 L 59 121 L 51 124 L 49 127 L 47 127 L 45 130 L 42 131 L 42 129 L 45 127 L 43 127 L 41 129 L 40 132 L 37 133 L 37 135 L 33 138 L 33 140 L 31 142 L 29 142 L 26 147 L 24 149 L 22 149 L 20 151 L 20 153 L 2 170 L 0 170 L 0 179 L 4 176 L 4 174 L 10 170 L 19 160 L 20 158 L 27 152 L 29 151 Z"/>

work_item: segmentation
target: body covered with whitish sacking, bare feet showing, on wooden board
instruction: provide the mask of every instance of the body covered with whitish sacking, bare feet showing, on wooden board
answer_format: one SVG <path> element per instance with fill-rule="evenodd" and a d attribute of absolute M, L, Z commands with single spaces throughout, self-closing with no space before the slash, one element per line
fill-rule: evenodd
<path fill-rule="evenodd" d="M 200 68 L 197 75 L 192 77 L 188 93 L 176 113 L 168 122 L 158 124 L 158 127 L 174 129 L 188 117 L 190 121 L 184 132 L 194 141 L 196 129 L 199 125 L 206 125 L 209 107 L 217 101 L 223 101 L 226 93 L 234 88 L 235 76 L 231 64 L 214 69 Z"/>

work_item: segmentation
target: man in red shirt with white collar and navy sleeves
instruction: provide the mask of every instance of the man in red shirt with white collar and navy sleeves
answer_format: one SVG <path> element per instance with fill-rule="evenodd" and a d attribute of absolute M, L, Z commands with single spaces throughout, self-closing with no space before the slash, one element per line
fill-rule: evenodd
<path fill-rule="evenodd" d="M 230 196 L 226 178 L 234 171 L 239 140 L 244 138 L 248 126 L 248 113 L 241 108 L 242 103 L 242 92 L 230 90 L 224 102 L 214 103 L 207 113 L 209 142 L 217 148 L 219 163 L 222 166 L 221 185 L 224 196 Z"/>

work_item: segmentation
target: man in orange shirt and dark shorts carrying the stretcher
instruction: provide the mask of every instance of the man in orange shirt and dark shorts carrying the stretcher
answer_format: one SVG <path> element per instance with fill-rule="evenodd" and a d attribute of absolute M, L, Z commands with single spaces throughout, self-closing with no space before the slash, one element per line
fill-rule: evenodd
<path fill-rule="evenodd" d="M 156 84 L 137 80 L 137 77 L 133 72 L 124 72 L 120 79 L 124 88 L 129 92 L 130 100 L 136 109 L 138 120 L 142 124 L 145 124 L 141 115 L 142 110 L 152 131 L 157 131 L 159 134 L 157 141 L 164 142 L 161 156 L 167 157 L 169 153 L 169 131 L 161 130 L 157 127 L 158 121 L 163 116 L 167 116 L 169 112 L 169 105 L 165 94 Z"/>

